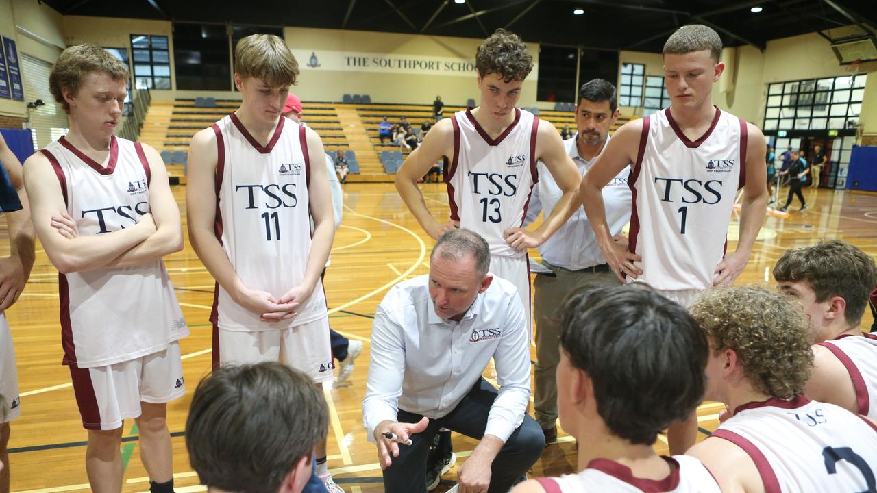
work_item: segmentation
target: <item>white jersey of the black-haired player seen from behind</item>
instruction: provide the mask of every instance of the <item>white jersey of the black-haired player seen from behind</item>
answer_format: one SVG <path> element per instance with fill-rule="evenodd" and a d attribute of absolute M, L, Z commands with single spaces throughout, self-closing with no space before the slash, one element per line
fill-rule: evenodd
<path fill-rule="evenodd" d="M 721 493 L 718 483 L 701 461 L 688 455 L 662 457 L 670 465 L 671 472 L 660 480 L 635 477 L 631 468 L 608 459 L 588 462 L 588 468 L 574 475 L 539 479 L 547 493 Z M 550 483 L 556 482 L 555 489 Z"/>

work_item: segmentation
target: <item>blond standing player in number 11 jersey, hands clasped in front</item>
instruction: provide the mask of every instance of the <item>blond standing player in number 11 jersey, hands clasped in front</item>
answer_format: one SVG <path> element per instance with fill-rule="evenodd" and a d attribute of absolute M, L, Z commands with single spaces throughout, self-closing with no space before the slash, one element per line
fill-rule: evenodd
<path fill-rule="evenodd" d="M 217 280 L 214 368 L 281 361 L 322 383 L 334 365 L 320 273 L 335 228 L 323 143 L 282 117 L 297 76 L 283 39 L 238 42 L 234 80 L 243 101 L 192 139 L 186 203 L 192 247 Z"/>

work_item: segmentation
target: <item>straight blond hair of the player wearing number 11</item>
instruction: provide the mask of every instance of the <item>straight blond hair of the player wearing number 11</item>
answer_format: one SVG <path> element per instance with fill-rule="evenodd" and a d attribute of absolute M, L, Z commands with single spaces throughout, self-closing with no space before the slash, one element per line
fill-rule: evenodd
<path fill-rule="evenodd" d="M 234 71 L 271 87 L 289 87 L 298 78 L 298 62 L 289 46 L 274 34 L 251 34 L 234 48 Z"/>

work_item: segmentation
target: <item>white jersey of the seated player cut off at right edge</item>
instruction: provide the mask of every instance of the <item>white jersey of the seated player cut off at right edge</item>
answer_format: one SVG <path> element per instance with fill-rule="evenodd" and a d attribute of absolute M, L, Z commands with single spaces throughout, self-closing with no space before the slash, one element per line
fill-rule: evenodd
<path fill-rule="evenodd" d="M 850 373 L 859 414 L 877 419 L 877 335 L 844 336 L 820 346 L 827 347 Z"/>

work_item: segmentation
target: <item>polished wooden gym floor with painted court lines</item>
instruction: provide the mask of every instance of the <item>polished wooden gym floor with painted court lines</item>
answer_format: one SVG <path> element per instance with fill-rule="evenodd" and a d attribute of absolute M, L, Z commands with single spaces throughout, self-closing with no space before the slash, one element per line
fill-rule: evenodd
<path fill-rule="evenodd" d="M 185 230 L 185 189 L 176 186 Z M 849 192 L 805 189 L 809 210 L 797 212 L 795 200 L 789 218 L 768 216 L 756 242 L 752 259 L 738 282 L 768 284 L 770 271 L 784 249 L 809 245 L 823 238 L 851 241 L 868 254 L 877 256 L 877 196 Z M 781 196 L 785 197 L 785 190 Z M 424 196 L 431 211 L 439 217 L 448 214 L 443 185 L 425 184 Z M 735 221 L 737 215 L 735 213 Z M 0 222 L 4 219 L 0 218 Z M 737 222 L 731 224 L 736 238 Z M 8 253 L 4 224 L 0 254 Z M 413 275 L 425 274 L 429 266 L 431 239 L 421 231 L 405 208 L 396 189 L 389 183 L 345 185 L 345 213 L 335 236 L 332 267 L 325 278 L 325 289 L 332 309 L 332 327 L 351 339 L 366 342 L 356 361 L 351 384 L 326 390 L 332 426 L 329 431 L 329 468 L 335 481 L 346 491 L 383 490 L 381 468 L 376 463 L 374 445 L 367 442 L 360 405 L 365 394 L 368 368 L 368 338 L 375 306 L 387 289 Z M 729 248 L 736 247 L 731 242 Z M 70 388 L 68 368 L 61 366 L 58 324 L 57 272 L 37 245 L 37 261 L 25 293 L 7 311 L 16 354 L 21 389 L 22 416 L 11 424 L 12 491 L 50 493 L 89 489 L 84 456 L 86 432 L 82 429 Z M 533 250 L 533 254 L 536 251 Z M 182 340 L 183 371 L 187 395 L 168 404 L 168 427 L 174 436 L 176 491 L 202 491 L 189 467 L 182 437 L 192 392 L 210 369 L 210 324 L 213 280 L 189 246 L 169 256 L 165 262 L 174 282 L 191 335 Z M 120 293 L 125 296 L 125 293 Z M 871 324 L 866 314 L 862 325 Z M 535 348 L 532 349 L 535 354 Z M 534 356 L 535 357 L 535 356 Z M 492 377 L 492 368 L 486 376 Z M 703 404 L 698 412 L 704 431 L 715 429 L 719 404 Z M 531 410 L 532 412 L 532 410 Z M 140 463 L 137 431 L 133 420 L 125 422 L 122 457 L 125 461 L 125 491 L 148 490 L 146 472 Z M 575 464 L 573 439 L 560 433 L 559 443 L 546 447 L 533 468 L 537 475 L 571 472 Z M 701 437 L 705 436 L 701 433 Z M 667 453 L 666 440 L 655 446 Z M 475 441 L 455 435 L 458 466 L 474 448 Z M 453 484 L 455 469 L 446 475 L 438 491 Z"/>

